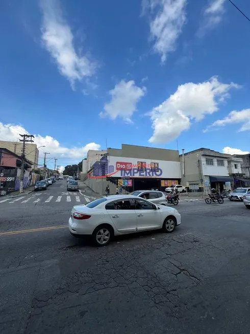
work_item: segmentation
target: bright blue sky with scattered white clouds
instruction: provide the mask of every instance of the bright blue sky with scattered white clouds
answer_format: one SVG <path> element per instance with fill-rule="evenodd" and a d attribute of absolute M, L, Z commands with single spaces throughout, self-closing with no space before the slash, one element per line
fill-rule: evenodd
<path fill-rule="evenodd" d="M 0 140 L 34 135 L 49 168 L 122 143 L 247 153 L 249 31 L 229 0 L 1 1 Z"/>

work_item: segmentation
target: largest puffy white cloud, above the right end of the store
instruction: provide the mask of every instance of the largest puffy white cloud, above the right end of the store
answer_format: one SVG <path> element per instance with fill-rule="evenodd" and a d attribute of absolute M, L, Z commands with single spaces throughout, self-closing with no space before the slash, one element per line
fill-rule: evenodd
<path fill-rule="evenodd" d="M 219 102 L 229 97 L 233 87 L 238 88 L 239 85 L 221 83 L 217 77 L 202 83 L 180 85 L 150 113 L 154 133 L 149 142 L 163 144 L 177 138 L 182 131 L 189 129 L 192 119 L 199 121 L 206 114 L 216 112 Z"/>

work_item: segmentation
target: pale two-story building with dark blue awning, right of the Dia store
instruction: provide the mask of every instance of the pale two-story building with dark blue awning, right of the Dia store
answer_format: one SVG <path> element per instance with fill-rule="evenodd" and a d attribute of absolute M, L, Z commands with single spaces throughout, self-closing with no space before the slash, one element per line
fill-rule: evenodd
<path fill-rule="evenodd" d="M 182 165 L 182 184 L 188 191 L 219 192 L 232 190 L 234 175 L 241 174 L 240 158 L 220 153 L 209 148 L 198 148 L 180 155 Z"/>

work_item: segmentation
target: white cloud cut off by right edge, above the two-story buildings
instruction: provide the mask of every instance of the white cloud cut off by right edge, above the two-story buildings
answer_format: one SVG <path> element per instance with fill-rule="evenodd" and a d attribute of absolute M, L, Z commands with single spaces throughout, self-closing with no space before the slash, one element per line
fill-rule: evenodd
<path fill-rule="evenodd" d="M 250 109 L 243 109 L 240 112 L 234 110 L 229 113 L 229 115 L 222 120 L 217 120 L 213 124 L 209 125 L 204 132 L 209 130 L 217 130 L 220 126 L 225 126 L 227 124 L 243 123 L 239 131 L 249 131 L 250 130 Z"/>

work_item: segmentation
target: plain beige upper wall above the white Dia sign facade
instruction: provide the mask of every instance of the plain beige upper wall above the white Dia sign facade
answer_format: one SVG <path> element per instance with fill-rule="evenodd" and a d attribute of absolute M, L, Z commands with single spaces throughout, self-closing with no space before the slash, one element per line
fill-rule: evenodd
<path fill-rule="evenodd" d="M 121 149 L 108 148 L 108 154 L 113 157 L 180 161 L 179 151 L 177 150 L 126 144 L 121 144 Z"/>

